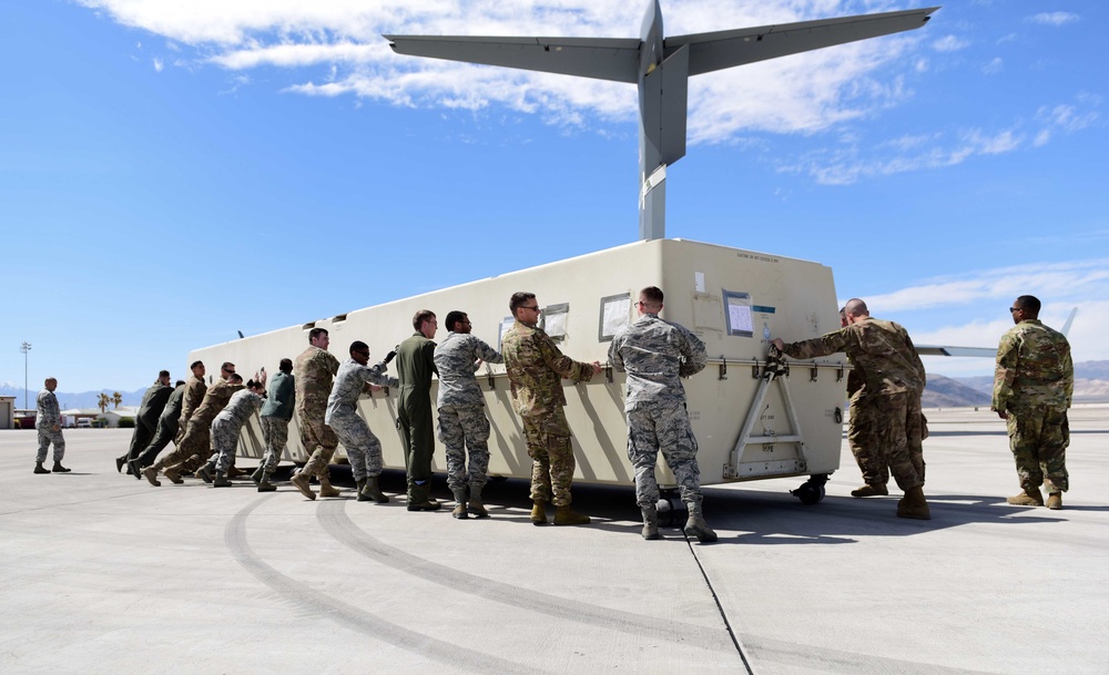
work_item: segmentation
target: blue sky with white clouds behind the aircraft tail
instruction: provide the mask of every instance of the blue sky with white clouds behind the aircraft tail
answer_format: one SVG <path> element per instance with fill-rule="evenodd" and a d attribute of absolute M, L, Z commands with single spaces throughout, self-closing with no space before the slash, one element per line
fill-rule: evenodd
<path fill-rule="evenodd" d="M 638 237 L 632 85 L 397 57 L 380 33 L 638 37 L 615 0 L 0 6 L 0 380 L 132 390 L 189 350 Z M 668 34 L 926 7 L 662 2 Z M 1100 2 L 700 75 L 668 236 L 818 260 L 919 344 L 1020 294 L 1109 359 Z M 988 359 L 927 359 L 984 375 Z"/>

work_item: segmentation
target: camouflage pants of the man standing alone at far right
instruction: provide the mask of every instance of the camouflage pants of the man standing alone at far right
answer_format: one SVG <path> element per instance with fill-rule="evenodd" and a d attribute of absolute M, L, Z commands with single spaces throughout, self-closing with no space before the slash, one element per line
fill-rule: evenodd
<path fill-rule="evenodd" d="M 1009 410 L 1005 426 L 1009 431 L 1009 450 L 1017 463 L 1020 487 L 1039 490 L 1046 483 L 1048 493 L 1066 492 L 1070 488 L 1070 475 L 1067 473 L 1070 422 L 1066 409 L 1037 407 Z"/>

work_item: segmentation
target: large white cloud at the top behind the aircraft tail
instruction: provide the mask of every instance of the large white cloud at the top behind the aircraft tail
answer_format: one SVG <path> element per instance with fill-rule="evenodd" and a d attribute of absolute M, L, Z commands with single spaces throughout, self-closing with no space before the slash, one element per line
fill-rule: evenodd
<path fill-rule="evenodd" d="M 286 91 L 353 95 L 394 105 L 481 110 L 502 105 L 549 123 L 635 116 L 635 89 L 578 78 L 398 57 L 381 33 L 638 37 L 643 2 L 592 0 L 74 0 L 115 21 L 190 45 L 193 61 L 245 73 L 263 67 L 325 68 Z M 894 9 L 871 2 L 865 11 Z M 857 12 L 847 0 L 671 0 L 669 34 L 755 27 Z M 722 21 L 726 17 L 726 21 Z M 722 25 L 722 22 L 724 23 Z M 690 82 L 691 143 L 733 142 L 742 131 L 812 133 L 912 95 L 906 73 L 923 35 L 865 40 L 699 76 Z M 953 41 L 954 40 L 954 41 Z M 945 42 L 948 49 L 963 44 Z M 882 73 L 881 76 L 878 73 Z"/>

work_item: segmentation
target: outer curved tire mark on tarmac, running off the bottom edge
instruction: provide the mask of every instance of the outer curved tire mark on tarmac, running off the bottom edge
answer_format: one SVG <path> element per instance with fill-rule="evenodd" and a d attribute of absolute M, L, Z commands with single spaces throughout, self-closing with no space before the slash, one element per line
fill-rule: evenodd
<path fill-rule="evenodd" d="M 423 633 L 389 623 L 387 620 L 366 612 L 342 600 L 323 594 L 312 586 L 282 574 L 255 555 L 246 541 L 246 520 L 268 497 L 255 500 L 236 513 L 224 530 L 224 541 L 235 561 L 258 581 L 312 613 L 329 618 L 346 628 L 356 631 L 374 640 L 385 642 L 414 654 L 431 658 L 445 665 L 488 675 L 550 675 L 533 666 L 505 661 L 496 656 L 475 652 L 467 647 L 436 640 Z"/>

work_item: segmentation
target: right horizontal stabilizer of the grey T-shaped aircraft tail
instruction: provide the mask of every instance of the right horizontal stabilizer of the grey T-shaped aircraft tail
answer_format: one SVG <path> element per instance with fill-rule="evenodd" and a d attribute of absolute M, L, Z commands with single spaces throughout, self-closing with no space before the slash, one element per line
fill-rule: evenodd
<path fill-rule="evenodd" d="M 675 35 L 665 39 L 665 54 L 669 57 L 673 51 L 688 44 L 690 74 L 700 75 L 744 63 L 913 30 L 924 25 L 937 9 L 939 8 L 929 7 L 901 12 Z"/>

